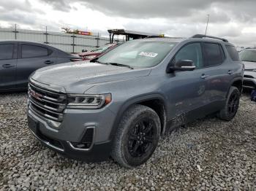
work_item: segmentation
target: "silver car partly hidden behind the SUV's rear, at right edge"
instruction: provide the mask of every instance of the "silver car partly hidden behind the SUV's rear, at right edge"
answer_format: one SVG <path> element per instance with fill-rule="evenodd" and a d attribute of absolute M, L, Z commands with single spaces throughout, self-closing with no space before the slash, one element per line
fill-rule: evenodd
<path fill-rule="evenodd" d="M 241 61 L 244 62 L 244 82 L 248 89 L 256 89 L 256 47 L 246 48 L 239 52 Z"/>

